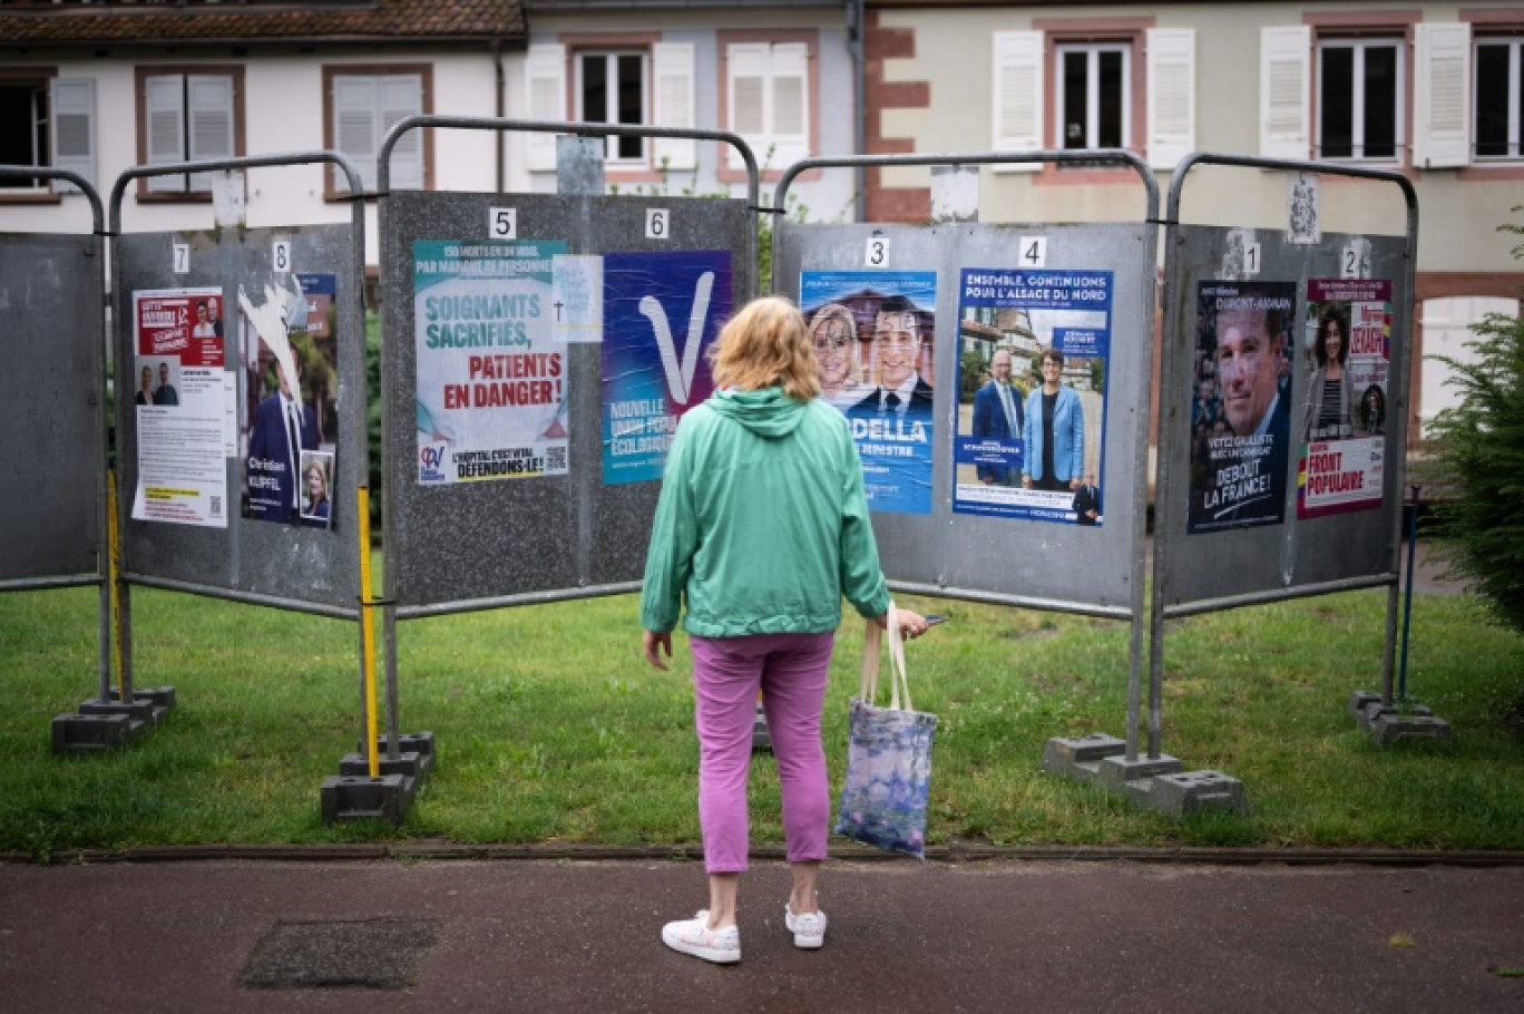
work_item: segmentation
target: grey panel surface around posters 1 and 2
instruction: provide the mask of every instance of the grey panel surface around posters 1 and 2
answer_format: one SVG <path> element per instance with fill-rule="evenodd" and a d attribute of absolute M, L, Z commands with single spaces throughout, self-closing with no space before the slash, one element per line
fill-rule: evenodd
<path fill-rule="evenodd" d="M 1271 601 L 1306 586 L 1338 587 L 1340 582 L 1359 578 L 1394 581 L 1398 538 L 1391 518 L 1402 502 L 1402 421 L 1407 418 L 1408 340 L 1413 325 L 1407 239 L 1323 233 L 1317 245 L 1289 245 L 1280 230 L 1254 232 L 1221 226 L 1178 226 L 1177 236 L 1170 255 L 1178 267 L 1177 278 L 1170 279 L 1170 291 L 1178 296 L 1170 297 L 1173 305 L 1166 320 L 1160 395 L 1160 454 L 1169 456 L 1172 467 L 1161 470 L 1163 482 L 1155 508 L 1155 538 L 1167 540 L 1158 582 L 1164 608 L 1177 614 L 1175 607 L 1209 599 L 1257 596 Z M 1298 319 L 1306 310 L 1308 279 L 1340 278 L 1340 256 L 1346 247 L 1369 244 L 1369 270 L 1362 276 L 1391 281 L 1388 425 L 1384 444 L 1387 467 L 1379 509 L 1298 520 L 1298 442 L 1292 433 L 1286 462 L 1285 520 L 1280 525 L 1187 535 L 1198 282 L 1242 278 L 1233 252 L 1241 250 L 1245 242 L 1257 242 L 1262 252 L 1257 281 L 1297 285 Z M 1306 400 L 1311 372 L 1300 349 L 1297 357 L 1291 390 L 1294 419 Z M 1242 602 L 1225 601 L 1219 607 L 1231 604 Z"/>

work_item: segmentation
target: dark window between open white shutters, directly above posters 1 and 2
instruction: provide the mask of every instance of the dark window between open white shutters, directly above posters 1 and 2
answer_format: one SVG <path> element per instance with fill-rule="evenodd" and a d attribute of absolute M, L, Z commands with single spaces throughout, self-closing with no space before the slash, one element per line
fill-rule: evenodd
<path fill-rule="evenodd" d="M 1318 145 L 1321 159 L 1394 162 L 1405 143 L 1404 43 L 1318 43 Z"/>

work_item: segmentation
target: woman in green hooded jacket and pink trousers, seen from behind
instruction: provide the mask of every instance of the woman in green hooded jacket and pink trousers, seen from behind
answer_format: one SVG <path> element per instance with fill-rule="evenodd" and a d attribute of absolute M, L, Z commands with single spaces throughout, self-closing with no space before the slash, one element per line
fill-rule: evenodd
<path fill-rule="evenodd" d="M 824 942 L 815 898 L 831 799 L 820 712 L 841 598 L 887 625 L 888 589 L 846 416 L 817 395 L 805 319 L 759 299 L 710 351 L 716 393 L 678 424 L 651 531 L 640 622 L 646 660 L 666 669 L 678 604 L 693 648 L 698 820 L 709 909 L 668 923 L 668 947 L 741 961 L 736 892 L 747 869 L 747 772 L 757 689 L 783 796 L 794 944 Z M 927 621 L 899 610 L 910 636 Z"/>

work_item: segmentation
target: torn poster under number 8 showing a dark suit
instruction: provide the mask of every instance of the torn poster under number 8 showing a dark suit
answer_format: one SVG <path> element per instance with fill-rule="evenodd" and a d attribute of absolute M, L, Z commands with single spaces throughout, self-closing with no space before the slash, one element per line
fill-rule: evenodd
<path fill-rule="evenodd" d="M 332 528 L 338 448 L 338 335 L 328 273 L 238 290 L 244 412 L 241 514 Z"/>

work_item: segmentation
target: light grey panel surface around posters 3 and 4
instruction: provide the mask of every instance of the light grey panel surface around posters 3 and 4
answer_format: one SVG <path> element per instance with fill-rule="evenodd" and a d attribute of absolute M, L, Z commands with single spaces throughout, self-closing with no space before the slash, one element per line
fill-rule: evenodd
<path fill-rule="evenodd" d="M 931 514 L 873 514 L 885 576 L 902 587 L 948 598 L 1009 601 L 1041 608 L 1132 614 L 1135 546 L 1132 496 L 1138 441 L 1148 418 L 1146 378 L 1152 346 L 1154 226 L 808 226 L 779 223 L 774 288 L 799 297 L 802 271 L 861 270 L 867 239 L 887 238 L 887 270 L 937 270 L 934 450 Z M 1087 529 L 1027 518 L 952 511 L 952 433 L 963 268 L 1013 268 L 1021 236 L 1047 236 L 1049 270 L 1109 270 L 1111 357 L 1106 378 L 1102 471 L 1106 518 Z M 943 380 L 946 378 L 946 380 Z"/>

